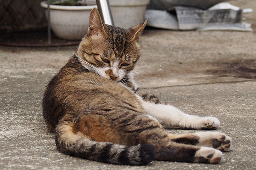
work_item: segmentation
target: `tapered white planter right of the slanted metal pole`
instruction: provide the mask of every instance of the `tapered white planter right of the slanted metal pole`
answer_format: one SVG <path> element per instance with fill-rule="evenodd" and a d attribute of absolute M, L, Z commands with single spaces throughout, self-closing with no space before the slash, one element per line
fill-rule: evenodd
<path fill-rule="evenodd" d="M 109 0 L 114 25 L 130 28 L 144 21 L 150 0 Z"/>

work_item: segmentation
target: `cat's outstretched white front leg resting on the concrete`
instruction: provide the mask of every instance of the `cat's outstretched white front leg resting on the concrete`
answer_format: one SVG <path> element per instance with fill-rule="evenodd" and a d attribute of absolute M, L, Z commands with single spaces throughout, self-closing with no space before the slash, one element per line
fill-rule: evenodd
<path fill-rule="evenodd" d="M 183 113 L 179 109 L 171 105 L 153 104 L 144 101 L 138 96 L 142 102 L 143 108 L 147 114 L 153 116 L 166 127 L 180 127 L 183 129 L 216 129 L 220 126 L 220 121 L 215 117 L 199 117 Z"/>

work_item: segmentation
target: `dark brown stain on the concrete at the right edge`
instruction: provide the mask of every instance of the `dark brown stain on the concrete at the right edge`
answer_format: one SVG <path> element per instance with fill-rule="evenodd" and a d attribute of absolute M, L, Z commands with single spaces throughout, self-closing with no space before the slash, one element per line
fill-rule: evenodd
<path fill-rule="evenodd" d="M 236 60 L 232 62 L 215 62 L 216 69 L 207 70 L 208 74 L 217 74 L 219 77 L 237 77 L 256 79 L 256 59 Z"/>

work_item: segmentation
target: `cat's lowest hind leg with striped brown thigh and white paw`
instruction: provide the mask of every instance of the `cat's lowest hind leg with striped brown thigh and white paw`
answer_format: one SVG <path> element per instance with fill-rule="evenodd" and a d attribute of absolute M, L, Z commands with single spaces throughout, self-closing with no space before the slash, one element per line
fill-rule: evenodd
<path fill-rule="evenodd" d="M 221 151 L 214 148 L 173 142 L 168 136 L 169 133 L 150 116 L 135 114 L 132 117 L 132 119 L 128 117 L 117 119 L 118 122 L 121 122 L 120 134 L 122 134 L 122 138 L 126 142 L 130 141 L 127 143 L 128 145 L 139 143 L 153 145 L 156 160 L 212 164 L 221 160 Z"/>

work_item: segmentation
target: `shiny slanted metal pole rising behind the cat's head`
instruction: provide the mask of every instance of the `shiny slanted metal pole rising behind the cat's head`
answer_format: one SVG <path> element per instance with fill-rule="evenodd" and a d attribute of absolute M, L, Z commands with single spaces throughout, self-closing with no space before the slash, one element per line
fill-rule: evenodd
<path fill-rule="evenodd" d="M 108 0 L 96 0 L 102 22 L 114 26 L 113 17 Z"/>

